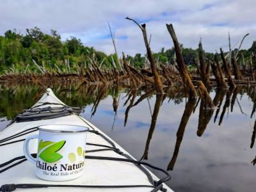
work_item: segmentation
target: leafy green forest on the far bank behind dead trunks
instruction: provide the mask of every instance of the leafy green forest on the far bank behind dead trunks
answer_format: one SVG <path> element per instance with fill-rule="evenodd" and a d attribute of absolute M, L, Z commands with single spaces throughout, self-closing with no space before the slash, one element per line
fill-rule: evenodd
<path fill-rule="evenodd" d="M 142 37 L 141 37 L 142 38 Z M 182 46 L 182 45 L 181 45 Z M 218 48 L 218 47 L 216 47 Z M 164 49 L 154 53 L 154 58 L 161 63 L 172 64 L 174 60 L 174 48 Z M 242 50 L 246 60 L 250 59 L 250 52 L 256 52 L 256 42 L 248 50 Z M 186 65 L 193 65 L 198 58 L 198 51 L 182 47 L 182 55 Z M 113 67 L 113 61 L 117 62 L 115 54 L 107 55 L 104 52 L 87 47 L 79 38 L 71 36 L 63 41 L 57 31 L 51 30 L 50 34 L 43 33 L 39 28 L 26 29 L 26 34 L 21 35 L 14 30 L 8 30 L 0 36 L 0 74 L 15 70 L 24 71 L 26 68 L 36 71 L 35 63 L 44 68 L 63 68 L 65 60 L 68 60 L 70 68 L 87 65 L 92 56 L 107 68 Z M 205 52 L 207 58 L 213 58 L 214 53 Z M 127 55 L 127 60 L 136 68 L 143 68 L 145 55 Z"/>

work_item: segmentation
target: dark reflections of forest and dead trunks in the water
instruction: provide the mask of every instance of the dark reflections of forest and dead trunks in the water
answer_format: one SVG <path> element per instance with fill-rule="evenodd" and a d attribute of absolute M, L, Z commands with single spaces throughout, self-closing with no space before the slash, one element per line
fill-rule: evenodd
<path fill-rule="evenodd" d="M 150 109 L 151 122 L 150 127 L 147 132 L 147 141 L 145 143 L 145 149 L 141 156 L 141 159 L 148 159 L 148 152 L 150 147 L 150 141 L 152 141 L 153 134 L 156 129 L 157 117 L 159 115 L 159 111 L 161 110 L 161 105 L 166 105 L 168 102 L 173 102 L 174 104 L 180 104 L 184 101 L 186 97 L 186 93 L 184 92 L 167 92 L 164 95 L 156 95 L 154 89 L 150 90 L 127 90 L 126 88 L 118 87 L 118 86 L 106 86 L 99 84 L 54 84 L 49 86 L 52 88 L 56 96 L 59 97 L 63 102 L 65 102 L 68 106 L 80 106 L 86 108 L 86 106 L 92 107 L 92 111 L 90 115 L 95 115 L 97 113 L 97 108 L 100 108 L 100 101 L 109 98 L 113 99 L 110 102 L 110 108 L 115 113 L 113 115 L 113 127 L 116 124 L 117 119 L 117 111 L 120 108 L 119 101 L 123 99 L 125 106 L 125 119 L 124 125 L 127 125 L 129 113 L 132 113 L 131 108 L 147 104 Z M 34 85 L 34 84 L 15 84 L 12 86 L 3 86 L 1 85 L 1 94 L 0 94 L 0 117 L 6 116 L 8 120 L 14 118 L 15 115 L 22 112 L 24 109 L 28 109 L 33 104 L 35 104 L 36 100 L 40 98 L 42 93 L 44 93 L 45 88 L 42 86 Z M 121 97 L 127 93 L 126 97 Z M 172 158 L 170 163 L 168 164 L 167 169 L 173 170 L 175 166 L 175 162 L 177 161 L 177 157 L 179 154 L 180 146 L 182 143 L 182 139 L 184 137 L 184 132 L 186 129 L 186 125 L 188 124 L 189 118 L 192 113 L 196 111 L 198 114 L 198 127 L 196 134 L 197 136 L 203 136 L 207 126 L 209 126 L 209 122 L 214 114 L 214 122 L 218 122 L 219 125 L 222 124 L 225 114 L 227 111 L 234 112 L 236 110 L 243 112 L 243 109 L 239 101 L 241 100 L 239 94 L 248 95 L 250 100 L 252 100 L 253 107 L 250 108 L 250 116 L 251 118 L 255 116 L 256 111 L 256 91 L 255 86 L 250 87 L 242 87 L 237 86 L 234 90 L 224 90 L 224 89 L 216 89 L 216 95 L 213 99 L 214 106 L 216 107 L 216 112 L 207 108 L 207 103 L 205 100 L 196 99 L 188 99 L 186 102 L 186 106 L 183 112 L 183 115 L 180 119 L 179 128 L 176 133 L 176 141 L 175 147 L 173 150 Z M 154 96 L 156 95 L 156 96 Z M 156 102 L 154 103 L 154 108 L 149 103 L 150 97 L 156 97 Z M 165 100 L 164 100 L 165 99 Z M 241 104 L 243 104 L 241 102 Z M 198 106 L 199 109 L 196 110 Z M 122 107 L 122 106 L 121 106 Z M 148 109 L 147 108 L 147 109 Z M 151 111 L 152 109 L 152 111 Z M 252 110 L 252 112 L 251 112 Z M 121 110 L 120 110 L 121 111 Z M 245 110 L 244 110 L 245 111 Z M 99 113 L 99 109 L 98 109 Z M 119 112 L 120 113 L 120 112 Z M 130 115 L 131 116 L 131 115 Z M 118 124 L 119 125 L 119 124 Z M 111 127 L 111 125 L 110 125 Z M 110 129 L 109 127 L 109 129 Z M 156 134 L 156 133 L 155 133 Z M 256 138 L 256 120 L 254 122 L 252 137 L 251 134 L 248 138 L 250 140 L 250 148 L 253 148 L 255 145 Z M 249 144 L 248 144 L 249 145 Z M 254 162 L 254 161 L 253 161 Z M 256 163 L 256 159 L 255 159 Z"/>

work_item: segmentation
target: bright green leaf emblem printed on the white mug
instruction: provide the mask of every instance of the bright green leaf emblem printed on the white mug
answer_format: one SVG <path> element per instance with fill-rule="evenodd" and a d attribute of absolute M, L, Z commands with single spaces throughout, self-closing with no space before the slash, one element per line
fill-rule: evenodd
<path fill-rule="evenodd" d="M 62 156 L 57 152 L 65 145 L 65 143 L 65 140 L 56 143 L 52 141 L 40 140 L 38 144 L 38 155 L 42 160 L 47 163 L 53 163 L 55 161 L 58 161 L 62 158 Z"/>

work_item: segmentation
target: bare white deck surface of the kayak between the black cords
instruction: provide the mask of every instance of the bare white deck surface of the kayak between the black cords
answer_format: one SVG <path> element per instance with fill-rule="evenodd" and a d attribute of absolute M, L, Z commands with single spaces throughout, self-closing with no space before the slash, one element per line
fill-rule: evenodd
<path fill-rule="evenodd" d="M 47 89 L 47 93 L 42 96 L 42 98 L 33 106 L 41 108 L 40 103 L 49 102 L 49 103 L 59 103 L 63 104 L 51 90 Z M 49 104 L 47 106 L 56 107 L 58 104 Z M 45 107 L 45 106 L 44 106 Z M 19 134 L 22 131 L 31 129 L 32 127 L 37 127 L 38 125 L 47 125 L 47 124 L 70 124 L 70 125 L 83 125 L 89 127 L 91 131 L 98 131 L 100 134 L 95 134 L 93 132 L 88 132 L 87 134 L 87 143 L 94 143 L 95 145 L 86 145 L 86 155 L 88 156 L 100 156 L 100 157 L 117 157 L 125 158 L 121 154 L 116 153 L 114 150 L 100 150 L 104 147 L 100 145 L 109 145 L 109 142 L 106 141 L 102 136 L 110 140 L 115 144 L 116 148 L 119 148 L 120 151 L 131 156 L 124 148 L 120 147 L 118 143 L 111 140 L 106 134 L 100 131 L 97 127 L 92 125 L 90 122 L 85 120 L 83 117 L 73 114 L 68 116 L 62 116 L 58 118 L 51 118 L 47 120 L 37 120 L 32 122 L 14 122 L 12 125 L 0 132 L 0 140 L 12 136 L 14 134 Z M 33 129 L 32 129 L 33 130 Z M 25 132 L 26 133 L 26 132 Z M 19 136 L 19 138 L 13 138 L 12 140 L 5 141 L 3 143 L 8 143 L 17 140 L 23 140 L 31 134 L 37 134 L 37 131 L 29 132 Z M 100 136 L 102 135 L 102 136 Z M 0 143 L 1 154 L 0 164 L 3 164 L 10 159 L 13 159 L 18 156 L 23 156 L 22 145 L 23 142 L 19 141 L 16 143 L 10 143 L 8 145 L 3 145 Z M 1 146 L 2 145 L 2 146 Z M 31 153 L 36 153 L 37 141 L 32 140 L 29 150 Z M 100 151 L 95 151 L 100 150 Z M 132 156 L 131 156 L 132 157 Z M 133 158 L 133 157 L 132 157 Z M 13 162 L 15 164 L 17 162 Z M 9 164 L 8 166 L 12 165 Z M 4 166 L 3 168 L 6 168 Z M 0 168 L 2 170 L 3 168 Z M 151 185 L 148 180 L 147 175 L 141 171 L 138 166 L 133 163 L 120 162 L 120 161 L 107 161 L 107 160 L 95 160 L 95 159 L 85 159 L 84 174 L 74 180 L 68 180 L 65 182 L 51 182 L 47 180 L 38 179 L 35 175 L 35 165 L 24 161 L 23 163 L 17 164 L 12 168 L 0 173 L 0 185 L 3 184 L 65 184 L 65 185 L 100 185 L 100 186 L 109 186 L 109 185 Z M 149 172 L 152 175 L 154 180 L 159 180 L 153 173 Z M 167 191 L 172 191 L 168 188 L 166 184 L 163 184 L 163 187 Z M 87 191 L 152 191 L 154 188 L 86 188 Z M 50 191 L 52 188 L 37 188 L 37 189 L 25 189 L 26 191 Z M 83 191 L 83 188 L 72 188 L 72 191 Z M 70 188 L 54 188 L 54 191 L 70 191 Z"/>

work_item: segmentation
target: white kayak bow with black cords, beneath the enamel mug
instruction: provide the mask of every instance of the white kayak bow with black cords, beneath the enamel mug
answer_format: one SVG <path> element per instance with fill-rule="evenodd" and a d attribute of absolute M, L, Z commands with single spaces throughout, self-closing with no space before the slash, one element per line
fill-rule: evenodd
<path fill-rule="evenodd" d="M 36 111 L 40 109 L 51 108 L 53 113 L 40 113 Z M 60 108 L 61 110 L 58 110 Z M 136 159 L 132 157 L 118 143 L 111 140 L 100 129 L 85 120 L 83 117 L 74 113 L 60 99 L 58 99 L 50 88 L 47 88 L 41 99 L 31 108 L 35 115 L 26 118 L 26 111 L 23 115 L 18 115 L 12 124 L 6 129 L 0 131 L 0 191 L 172 191 L 166 184 L 162 183 L 146 166 L 138 165 L 138 163 L 124 161 L 109 161 L 106 159 L 85 159 L 84 173 L 81 177 L 63 182 L 51 182 L 42 180 L 35 175 L 35 165 L 24 159 L 23 142 L 31 134 L 38 132 L 36 128 L 39 125 L 59 124 L 59 125 L 80 125 L 90 129 L 87 134 L 86 156 L 97 157 L 116 157 L 122 159 Z M 55 111 L 54 111 L 55 110 Z M 68 114 L 67 114 L 68 113 Z M 25 115 L 24 115 L 25 114 Z M 44 117 L 44 114 L 48 114 Z M 42 116 L 40 116 L 42 115 Z M 99 132 L 99 134 L 95 134 Z M 31 140 L 29 151 L 36 153 L 37 140 Z M 94 144 L 93 144 L 94 143 Z M 102 148 L 112 148 L 112 150 L 102 150 Z M 108 148 L 108 147 L 107 147 Z M 118 148 L 119 150 L 116 150 Z M 20 157 L 20 158 L 16 158 Z M 16 159 L 15 159 L 16 158 Z M 10 161 L 12 159 L 12 161 Z M 113 158 L 114 159 L 114 158 Z M 146 173 L 145 173 L 146 172 Z M 164 174 L 162 174 L 164 175 Z M 164 176 L 165 177 L 165 176 Z M 167 176 L 166 176 L 167 177 Z M 155 182 L 153 182 L 155 180 Z M 160 181 L 159 181 L 160 180 Z M 158 181 L 158 182 L 157 182 Z M 155 184 L 154 184 L 155 183 Z M 157 184 L 156 184 L 157 183 Z M 20 189 L 17 186 L 3 186 L 6 184 L 44 184 L 44 188 L 26 188 Z M 48 185 L 48 186 L 47 186 Z M 68 185 L 52 186 L 49 185 Z M 71 186 L 69 186 L 71 185 Z M 73 186 L 78 186 L 77 188 Z M 134 187 L 125 187 L 125 186 Z M 2 186 L 2 188 L 1 188 Z M 33 186 L 33 185 L 32 185 Z M 81 187 L 79 187 L 81 186 Z M 101 186 L 101 188 L 83 188 L 83 186 Z M 108 186 L 104 188 L 104 186 Z M 111 188 L 110 186 L 113 186 Z M 115 188 L 119 186 L 120 188 Z M 124 187 L 122 187 L 124 186 Z M 136 187 L 138 186 L 138 187 Z M 151 186 L 151 187 L 150 187 Z M 29 187 L 29 186 L 27 186 Z M 31 186 L 30 186 L 31 187 Z M 47 187 L 47 188 L 46 188 Z M 164 190 L 165 189 L 165 190 Z"/>

